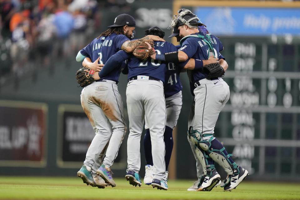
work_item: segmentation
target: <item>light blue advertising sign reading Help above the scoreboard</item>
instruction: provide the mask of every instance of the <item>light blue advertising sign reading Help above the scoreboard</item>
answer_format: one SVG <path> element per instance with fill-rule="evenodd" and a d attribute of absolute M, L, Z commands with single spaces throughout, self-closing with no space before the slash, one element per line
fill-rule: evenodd
<path fill-rule="evenodd" d="M 300 8 L 197 7 L 194 13 L 215 35 L 300 34 Z"/>

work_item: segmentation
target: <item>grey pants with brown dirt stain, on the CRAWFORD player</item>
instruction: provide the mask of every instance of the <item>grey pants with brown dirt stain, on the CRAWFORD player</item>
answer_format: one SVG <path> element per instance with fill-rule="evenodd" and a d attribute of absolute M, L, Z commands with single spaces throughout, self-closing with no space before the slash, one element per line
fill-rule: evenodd
<path fill-rule="evenodd" d="M 96 171 L 99 155 L 109 142 L 103 164 L 111 167 L 127 131 L 123 102 L 116 82 L 94 82 L 83 88 L 81 105 L 96 133 L 84 164 Z"/>

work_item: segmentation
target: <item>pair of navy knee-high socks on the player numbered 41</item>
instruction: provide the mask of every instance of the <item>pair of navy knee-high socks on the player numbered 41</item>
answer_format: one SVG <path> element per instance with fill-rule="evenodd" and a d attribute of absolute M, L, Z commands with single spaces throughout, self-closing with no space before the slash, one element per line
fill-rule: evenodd
<path fill-rule="evenodd" d="M 172 150 L 173 150 L 173 129 L 166 126 L 165 132 L 163 135 L 163 140 L 165 142 L 165 162 L 166 162 L 166 170 L 168 171 L 168 166 L 170 163 Z M 151 153 L 151 139 L 150 139 L 150 130 L 146 129 L 146 134 L 144 137 L 144 151 L 145 151 L 145 157 L 146 157 L 146 164 L 147 165 L 153 165 L 152 161 L 152 153 Z"/>

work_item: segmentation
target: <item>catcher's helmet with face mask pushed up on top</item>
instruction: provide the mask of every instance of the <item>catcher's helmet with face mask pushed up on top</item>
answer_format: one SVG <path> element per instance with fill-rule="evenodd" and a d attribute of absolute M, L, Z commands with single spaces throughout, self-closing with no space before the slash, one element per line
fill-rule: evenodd
<path fill-rule="evenodd" d="M 177 28 L 183 24 L 187 25 L 190 28 L 197 28 L 198 26 L 202 25 L 202 22 L 197 17 L 197 15 L 193 14 L 190 10 L 180 9 L 178 10 L 178 15 L 173 16 L 168 30 Z"/>

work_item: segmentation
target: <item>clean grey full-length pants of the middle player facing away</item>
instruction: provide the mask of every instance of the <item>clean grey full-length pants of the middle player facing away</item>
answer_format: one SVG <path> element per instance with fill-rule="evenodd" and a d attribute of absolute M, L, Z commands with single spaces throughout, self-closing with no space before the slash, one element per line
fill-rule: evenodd
<path fill-rule="evenodd" d="M 140 140 L 145 119 L 150 129 L 153 165 L 155 166 L 153 175 L 155 179 L 163 180 L 166 173 L 165 144 L 163 141 L 166 125 L 166 103 L 163 82 L 138 76 L 138 80 L 128 83 L 126 97 L 129 118 L 127 171 L 133 170 L 138 173 L 140 170 Z"/>

